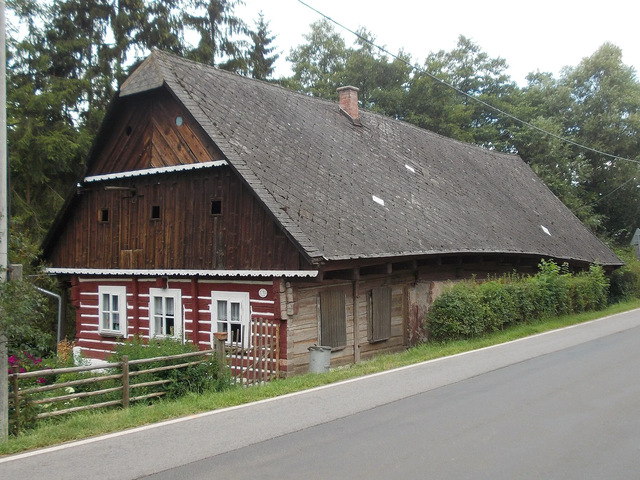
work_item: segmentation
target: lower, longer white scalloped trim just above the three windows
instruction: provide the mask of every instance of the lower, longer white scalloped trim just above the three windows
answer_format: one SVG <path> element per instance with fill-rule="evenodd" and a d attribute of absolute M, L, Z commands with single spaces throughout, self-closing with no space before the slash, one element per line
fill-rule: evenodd
<path fill-rule="evenodd" d="M 127 276 L 309 276 L 317 270 L 178 270 L 178 269 L 119 269 L 119 268 L 47 268 L 53 275 L 127 275 Z"/>

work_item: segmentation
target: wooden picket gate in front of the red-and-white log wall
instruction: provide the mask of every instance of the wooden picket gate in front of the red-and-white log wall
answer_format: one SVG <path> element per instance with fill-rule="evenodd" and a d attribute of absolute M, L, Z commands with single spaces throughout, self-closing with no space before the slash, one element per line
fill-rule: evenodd
<path fill-rule="evenodd" d="M 227 345 L 227 365 L 241 385 L 253 385 L 278 378 L 280 374 L 280 323 L 252 319 L 250 342 L 243 346 L 239 335 Z"/>

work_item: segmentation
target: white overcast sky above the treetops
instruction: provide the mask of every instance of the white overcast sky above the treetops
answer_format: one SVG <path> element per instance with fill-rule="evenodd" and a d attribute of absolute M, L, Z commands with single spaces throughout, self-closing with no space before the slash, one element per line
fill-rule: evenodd
<path fill-rule="evenodd" d="M 506 58 L 508 73 L 525 84 L 529 72 L 556 76 L 604 42 L 621 47 L 623 61 L 640 66 L 640 0 L 305 0 L 351 29 L 365 26 L 380 44 L 420 61 L 430 51 L 450 50 L 458 35 L 472 38 L 490 56 Z M 317 13 L 296 0 L 245 0 L 236 13 L 253 25 L 262 10 L 282 51 L 275 76 L 291 73 L 285 56 L 304 41 Z M 337 28 L 339 31 L 341 29 Z M 348 44 L 353 35 L 342 31 Z"/>

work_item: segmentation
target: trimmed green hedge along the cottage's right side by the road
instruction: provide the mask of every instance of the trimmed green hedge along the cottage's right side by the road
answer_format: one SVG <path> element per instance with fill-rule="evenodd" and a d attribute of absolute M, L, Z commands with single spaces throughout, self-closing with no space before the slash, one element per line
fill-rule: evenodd
<path fill-rule="evenodd" d="M 426 320 L 438 340 L 466 339 L 557 315 L 600 310 L 607 305 L 609 280 L 604 269 L 572 275 L 565 265 L 541 261 L 534 276 L 515 273 L 485 282 L 464 280 L 447 287 L 433 302 Z"/>

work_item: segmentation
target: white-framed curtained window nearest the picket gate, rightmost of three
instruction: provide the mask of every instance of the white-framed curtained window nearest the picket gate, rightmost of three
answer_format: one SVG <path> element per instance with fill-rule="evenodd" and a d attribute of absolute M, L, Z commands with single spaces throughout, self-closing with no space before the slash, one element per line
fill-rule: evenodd
<path fill-rule="evenodd" d="M 248 292 L 211 292 L 211 323 L 211 332 L 228 332 L 227 344 L 251 346 Z"/>

